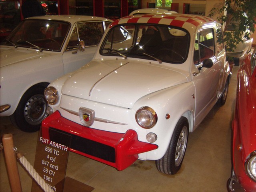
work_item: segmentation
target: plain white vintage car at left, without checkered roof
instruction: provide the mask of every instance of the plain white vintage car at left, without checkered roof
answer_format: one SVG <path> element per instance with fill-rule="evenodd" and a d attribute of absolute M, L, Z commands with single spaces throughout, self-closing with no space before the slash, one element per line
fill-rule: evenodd
<path fill-rule="evenodd" d="M 0 44 L 0 116 L 26 132 L 46 117 L 48 84 L 92 60 L 111 20 L 38 16 L 23 20 Z"/>

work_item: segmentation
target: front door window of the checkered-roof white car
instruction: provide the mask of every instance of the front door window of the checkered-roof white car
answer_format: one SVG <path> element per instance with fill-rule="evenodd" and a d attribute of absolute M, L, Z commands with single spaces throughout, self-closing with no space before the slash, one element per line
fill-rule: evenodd
<path fill-rule="evenodd" d="M 200 30 L 194 45 L 194 64 L 214 56 L 214 32 L 212 28 Z"/>

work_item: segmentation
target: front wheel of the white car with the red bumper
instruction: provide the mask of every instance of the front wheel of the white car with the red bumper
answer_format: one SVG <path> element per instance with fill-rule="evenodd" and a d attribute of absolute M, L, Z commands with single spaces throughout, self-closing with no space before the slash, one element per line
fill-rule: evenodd
<path fill-rule="evenodd" d="M 181 117 L 174 129 L 166 153 L 161 159 L 156 160 L 158 171 L 168 175 L 176 174 L 182 165 L 187 142 L 188 120 L 185 117 Z"/>

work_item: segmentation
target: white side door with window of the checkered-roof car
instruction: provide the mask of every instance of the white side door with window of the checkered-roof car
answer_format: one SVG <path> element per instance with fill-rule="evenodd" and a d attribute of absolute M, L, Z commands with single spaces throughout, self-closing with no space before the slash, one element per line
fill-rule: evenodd
<path fill-rule="evenodd" d="M 192 64 L 192 80 L 195 85 L 195 126 L 204 119 L 217 100 L 220 64 L 216 58 L 214 28 L 198 30 L 194 43 L 194 64 Z M 205 59 L 211 59 L 211 68 L 198 68 Z"/>

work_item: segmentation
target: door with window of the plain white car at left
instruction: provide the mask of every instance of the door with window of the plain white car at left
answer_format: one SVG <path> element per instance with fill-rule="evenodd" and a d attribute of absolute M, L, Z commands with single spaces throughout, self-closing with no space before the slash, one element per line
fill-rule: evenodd
<path fill-rule="evenodd" d="M 90 62 L 110 22 L 89 21 L 77 23 L 73 29 L 66 50 L 62 55 L 64 74 L 72 72 Z M 85 50 L 78 50 L 79 41 L 84 41 Z"/>

